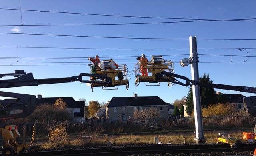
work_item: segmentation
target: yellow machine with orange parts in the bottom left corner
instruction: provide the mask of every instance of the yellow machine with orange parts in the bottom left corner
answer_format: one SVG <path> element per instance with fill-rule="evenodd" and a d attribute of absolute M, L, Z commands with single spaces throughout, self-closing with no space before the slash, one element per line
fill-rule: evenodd
<path fill-rule="evenodd" d="M 19 144 L 16 139 L 20 136 L 17 126 L 5 126 L 0 128 L 1 146 L 4 147 L 2 151 L 3 156 L 13 156 L 15 153 L 23 152 L 28 148 L 28 144 Z"/>

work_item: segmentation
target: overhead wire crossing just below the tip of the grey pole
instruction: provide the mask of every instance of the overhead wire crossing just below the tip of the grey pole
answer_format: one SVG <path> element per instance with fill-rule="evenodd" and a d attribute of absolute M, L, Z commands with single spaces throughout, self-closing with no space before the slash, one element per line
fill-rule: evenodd
<path fill-rule="evenodd" d="M 42 36 L 58 36 L 58 37 L 92 37 L 92 38 L 111 38 L 111 39 L 167 39 L 167 40 L 189 40 L 188 38 L 142 38 L 142 37 L 104 37 L 104 36 L 83 36 L 83 35 L 54 35 L 54 34 L 36 34 L 36 33 L 2 33 L 0 34 L 14 34 L 14 35 L 42 35 Z M 243 40 L 256 41 L 256 39 L 197 39 L 197 40 Z"/>

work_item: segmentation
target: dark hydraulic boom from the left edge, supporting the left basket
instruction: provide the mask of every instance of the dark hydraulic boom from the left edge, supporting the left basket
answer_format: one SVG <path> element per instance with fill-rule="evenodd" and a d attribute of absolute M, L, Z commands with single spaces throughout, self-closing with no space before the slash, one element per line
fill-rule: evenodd
<path fill-rule="evenodd" d="M 79 81 L 82 83 L 90 84 L 102 84 L 112 85 L 112 78 L 104 74 L 88 74 L 80 73 L 78 76 L 71 76 L 66 78 L 47 78 L 47 79 L 34 79 L 32 73 L 26 73 L 23 70 L 15 70 L 15 73 L 0 74 L 0 78 L 6 76 L 14 76 L 14 79 L 0 80 L 0 88 L 12 88 L 12 87 L 23 87 L 23 86 L 38 86 L 41 84 L 58 84 L 58 83 L 69 83 Z M 83 80 L 83 77 L 90 77 L 89 80 Z M 100 79 L 100 81 L 97 81 Z M 0 111 L 10 111 L 13 114 L 0 115 L 0 120 L 6 119 L 17 119 L 23 118 L 33 113 L 36 108 L 36 104 L 40 103 L 40 99 L 34 95 L 19 94 L 11 92 L 1 92 L 1 97 L 11 97 L 14 99 L 0 100 L 0 103 L 4 105 L 0 108 Z"/>

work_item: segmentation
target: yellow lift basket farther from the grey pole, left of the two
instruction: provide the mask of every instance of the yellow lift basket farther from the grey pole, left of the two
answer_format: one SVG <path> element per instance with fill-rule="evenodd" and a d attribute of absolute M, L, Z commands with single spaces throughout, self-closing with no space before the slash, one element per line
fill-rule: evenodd
<path fill-rule="evenodd" d="M 102 87 L 102 90 L 113 90 L 117 89 L 117 86 L 126 85 L 126 90 L 129 88 L 128 68 L 126 64 L 118 64 L 118 68 L 116 68 L 114 66 L 114 60 L 104 60 L 96 66 L 90 66 L 90 73 L 106 75 L 108 77 L 108 80 L 105 80 L 105 78 L 91 77 L 90 80 L 98 82 L 91 83 L 92 92 L 93 87 Z M 108 82 L 108 84 L 101 83 L 106 81 L 110 82 Z M 103 87 L 105 87 L 105 89 Z M 108 87 L 116 88 L 106 89 Z"/>

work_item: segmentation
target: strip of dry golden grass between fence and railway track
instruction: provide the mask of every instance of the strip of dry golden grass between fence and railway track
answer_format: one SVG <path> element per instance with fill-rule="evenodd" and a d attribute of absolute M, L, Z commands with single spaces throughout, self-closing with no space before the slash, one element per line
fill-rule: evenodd
<path fill-rule="evenodd" d="M 204 132 L 204 137 L 207 139 L 206 143 L 215 143 L 215 139 L 218 136 L 218 133 L 223 133 L 228 131 L 206 131 Z M 234 131 L 230 132 L 233 137 L 242 138 L 243 131 Z M 196 138 L 194 132 L 174 132 L 166 134 L 122 134 L 122 135 L 94 135 L 87 136 L 93 137 L 90 144 L 86 144 L 81 139 L 82 136 L 70 136 L 70 139 L 67 144 L 64 146 L 107 146 L 107 142 L 111 142 L 112 146 L 125 146 L 125 145 L 134 145 L 134 144 L 154 144 L 155 137 L 158 137 L 158 142 L 162 144 L 194 144 Z M 218 136 L 221 137 L 221 136 Z M 41 148 L 51 148 L 49 142 L 40 143 Z"/>

